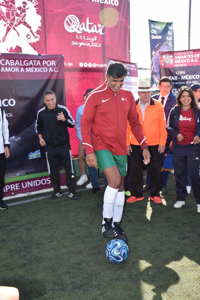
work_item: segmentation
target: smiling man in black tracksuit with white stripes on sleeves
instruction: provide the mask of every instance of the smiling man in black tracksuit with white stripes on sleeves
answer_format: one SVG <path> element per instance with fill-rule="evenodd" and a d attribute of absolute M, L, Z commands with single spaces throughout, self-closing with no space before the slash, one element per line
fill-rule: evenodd
<path fill-rule="evenodd" d="M 50 167 L 50 179 L 54 189 L 51 199 L 61 196 L 59 158 L 66 173 L 66 185 L 69 188 L 69 197 L 79 199 L 76 194 L 76 180 L 73 172 L 70 138 L 67 127 L 73 128 L 75 121 L 69 110 L 60 104 L 56 104 L 56 95 L 52 90 L 43 94 L 46 104 L 37 112 L 36 132 L 40 145 L 47 149 L 47 159 Z"/>

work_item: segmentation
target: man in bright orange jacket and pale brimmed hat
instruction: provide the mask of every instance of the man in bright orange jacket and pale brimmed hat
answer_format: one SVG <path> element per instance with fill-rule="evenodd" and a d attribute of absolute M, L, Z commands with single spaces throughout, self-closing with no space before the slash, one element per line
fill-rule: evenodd
<path fill-rule="evenodd" d="M 151 178 L 150 199 L 162 203 L 162 153 L 165 151 L 167 139 L 166 118 L 160 101 L 151 98 L 150 82 L 140 81 L 138 88 L 139 99 L 136 108 L 146 137 L 151 161 L 148 171 Z M 130 155 L 131 165 L 131 196 L 126 201 L 133 203 L 143 200 L 143 157 L 141 147 L 127 123 L 127 154 Z"/>

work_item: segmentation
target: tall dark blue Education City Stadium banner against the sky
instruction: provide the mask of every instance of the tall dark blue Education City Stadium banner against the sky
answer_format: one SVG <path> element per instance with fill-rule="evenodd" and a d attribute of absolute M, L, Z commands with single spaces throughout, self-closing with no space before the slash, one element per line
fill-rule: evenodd
<path fill-rule="evenodd" d="M 165 23 L 149 20 L 150 51 L 151 51 L 151 86 L 158 89 L 160 79 L 159 52 L 174 50 L 173 22 Z"/>

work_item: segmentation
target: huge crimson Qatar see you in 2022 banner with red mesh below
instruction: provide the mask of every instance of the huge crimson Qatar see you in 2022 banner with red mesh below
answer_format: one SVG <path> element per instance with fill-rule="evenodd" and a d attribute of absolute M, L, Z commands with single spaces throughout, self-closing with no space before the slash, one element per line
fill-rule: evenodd
<path fill-rule="evenodd" d="M 0 52 L 64 55 L 66 106 L 75 118 L 85 91 L 104 82 L 106 57 L 130 61 L 130 1 L 2 0 Z M 76 156 L 76 130 L 69 132 Z"/>

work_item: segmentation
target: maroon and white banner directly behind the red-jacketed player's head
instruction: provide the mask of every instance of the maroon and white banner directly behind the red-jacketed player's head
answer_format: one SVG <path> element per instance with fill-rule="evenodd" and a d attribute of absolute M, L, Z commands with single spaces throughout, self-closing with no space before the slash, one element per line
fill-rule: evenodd
<path fill-rule="evenodd" d="M 111 64 L 113 61 L 117 61 L 112 58 L 107 58 L 107 64 Z M 135 99 L 138 98 L 138 68 L 137 64 L 133 62 L 127 62 L 127 61 L 121 61 L 126 67 L 127 67 L 127 76 L 124 79 L 124 88 L 127 88 L 128 90 L 132 91 L 133 96 Z"/>

